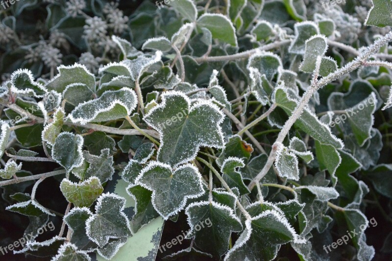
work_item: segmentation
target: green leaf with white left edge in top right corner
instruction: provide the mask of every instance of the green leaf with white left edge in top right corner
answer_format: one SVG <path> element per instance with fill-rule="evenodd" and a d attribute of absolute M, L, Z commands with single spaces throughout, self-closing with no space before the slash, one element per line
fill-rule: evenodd
<path fill-rule="evenodd" d="M 389 0 L 372 0 L 365 24 L 378 27 L 392 26 L 392 2 Z"/>

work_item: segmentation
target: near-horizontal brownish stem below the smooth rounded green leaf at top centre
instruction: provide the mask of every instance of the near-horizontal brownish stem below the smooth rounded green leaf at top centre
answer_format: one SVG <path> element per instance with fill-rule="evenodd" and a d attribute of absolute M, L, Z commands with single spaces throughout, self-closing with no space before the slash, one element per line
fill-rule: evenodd
<path fill-rule="evenodd" d="M 203 62 L 222 62 L 222 61 L 233 61 L 233 60 L 237 60 L 237 59 L 243 59 L 243 58 L 248 58 L 250 57 L 252 54 L 254 54 L 257 51 L 267 51 L 270 49 L 274 49 L 277 47 L 281 47 L 284 45 L 288 45 L 291 43 L 291 40 L 284 40 L 281 42 L 275 42 L 275 43 L 271 43 L 262 47 L 257 47 L 251 50 L 247 50 L 244 52 L 239 52 L 236 54 L 232 54 L 232 55 L 223 55 L 223 56 L 212 56 L 212 57 L 198 57 L 195 58 L 195 61 L 198 63 L 203 63 Z"/>

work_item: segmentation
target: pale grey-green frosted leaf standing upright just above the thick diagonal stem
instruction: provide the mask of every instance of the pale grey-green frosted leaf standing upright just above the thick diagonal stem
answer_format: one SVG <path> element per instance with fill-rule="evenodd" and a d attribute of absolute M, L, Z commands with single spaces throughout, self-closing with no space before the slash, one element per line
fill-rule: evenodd
<path fill-rule="evenodd" d="M 327 49 L 327 39 L 323 35 L 314 35 L 306 40 L 305 55 L 299 69 L 309 73 L 315 71 L 317 57 L 324 56 Z"/>

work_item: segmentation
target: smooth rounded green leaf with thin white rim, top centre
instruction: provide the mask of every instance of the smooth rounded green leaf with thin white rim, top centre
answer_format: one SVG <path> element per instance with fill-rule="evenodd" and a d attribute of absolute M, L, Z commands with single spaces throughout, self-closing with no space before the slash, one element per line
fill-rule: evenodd
<path fill-rule="evenodd" d="M 197 25 L 210 30 L 213 38 L 237 46 L 235 28 L 227 17 L 221 14 L 203 14 L 197 19 Z"/>

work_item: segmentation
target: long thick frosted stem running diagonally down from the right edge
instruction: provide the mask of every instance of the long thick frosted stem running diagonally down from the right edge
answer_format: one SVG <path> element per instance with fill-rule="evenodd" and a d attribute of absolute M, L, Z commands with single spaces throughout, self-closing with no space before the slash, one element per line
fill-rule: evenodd
<path fill-rule="evenodd" d="M 358 56 L 355 58 L 352 62 L 349 62 L 346 64 L 343 68 L 340 70 L 331 72 L 327 76 L 321 78 L 316 84 L 312 83 L 312 85 L 308 88 L 308 90 L 303 94 L 301 100 L 295 107 L 293 114 L 290 116 L 290 118 L 286 121 L 285 125 L 283 126 L 282 130 L 280 131 L 278 138 L 274 142 L 272 146 L 272 150 L 270 153 L 270 156 L 268 157 L 267 164 L 263 167 L 263 169 L 260 171 L 259 174 L 249 183 L 248 188 L 249 190 L 253 189 L 255 184 L 259 182 L 270 170 L 270 167 L 272 166 L 273 162 L 275 161 L 276 158 L 276 150 L 278 148 L 278 145 L 283 142 L 285 139 L 286 135 L 289 133 L 289 130 L 293 126 L 294 122 L 301 116 L 303 109 L 305 108 L 306 104 L 308 104 L 310 98 L 313 96 L 313 94 L 319 89 L 324 87 L 330 82 L 333 82 L 343 75 L 350 73 L 351 71 L 354 71 L 361 67 L 368 58 L 375 53 L 380 47 L 384 46 L 388 42 L 392 41 L 392 32 L 387 33 L 384 37 L 378 39 L 375 41 L 373 45 L 368 47 L 362 55 Z"/>

